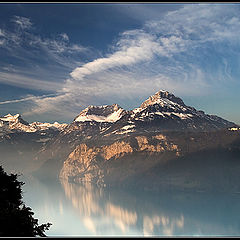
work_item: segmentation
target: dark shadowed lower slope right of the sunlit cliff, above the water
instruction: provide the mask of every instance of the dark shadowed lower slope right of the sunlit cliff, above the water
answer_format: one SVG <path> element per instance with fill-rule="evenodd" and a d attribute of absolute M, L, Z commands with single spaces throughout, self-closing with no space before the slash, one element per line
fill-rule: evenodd
<path fill-rule="evenodd" d="M 240 193 L 239 171 L 240 151 L 216 148 L 158 163 L 124 179 L 122 186 L 154 191 Z"/>

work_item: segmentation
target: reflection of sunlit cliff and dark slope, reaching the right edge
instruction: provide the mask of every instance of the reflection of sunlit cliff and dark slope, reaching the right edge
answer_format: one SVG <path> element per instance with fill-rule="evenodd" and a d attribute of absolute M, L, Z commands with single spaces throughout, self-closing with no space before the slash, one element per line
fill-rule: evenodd
<path fill-rule="evenodd" d="M 65 181 L 62 186 L 93 234 L 102 228 L 105 234 L 112 228 L 116 234 L 144 236 L 240 233 L 236 196 L 130 193 Z"/>

